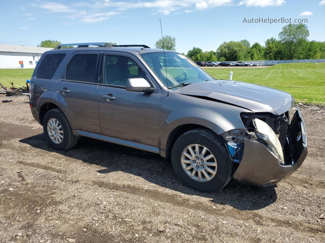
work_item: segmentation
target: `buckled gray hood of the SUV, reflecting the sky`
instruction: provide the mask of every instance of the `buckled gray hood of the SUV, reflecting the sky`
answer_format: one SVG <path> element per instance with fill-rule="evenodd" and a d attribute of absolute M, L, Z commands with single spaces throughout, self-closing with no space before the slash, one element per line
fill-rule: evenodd
<path fill-rule="evenodd" d="M 193 83 L 174 90 L 175 93 L 215 100 L 253 112 L 280 115 L 294 103 L 292 95 L 274 88 L 230 80 Z"/>

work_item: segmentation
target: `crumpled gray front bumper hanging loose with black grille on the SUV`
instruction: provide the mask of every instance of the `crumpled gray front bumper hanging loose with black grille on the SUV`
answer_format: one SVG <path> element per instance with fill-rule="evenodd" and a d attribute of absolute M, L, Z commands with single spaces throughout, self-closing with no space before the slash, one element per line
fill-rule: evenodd
<path fill-rule="evenodd" d="M 267 147 L 256 141 L 244 139 L 244 152 L 233 178 L 241 183 L 271 186 L 297 170 L 307 156 L 307 138 L 303 118 L 297 111 L 288 126 L 287 142 L 294 160 L 290 165 L 279 164 Z"/>

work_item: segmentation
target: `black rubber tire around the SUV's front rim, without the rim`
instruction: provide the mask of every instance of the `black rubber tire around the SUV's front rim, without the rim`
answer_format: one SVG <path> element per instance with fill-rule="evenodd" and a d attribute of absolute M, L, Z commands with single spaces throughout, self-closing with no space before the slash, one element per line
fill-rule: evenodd
<path fill-rule="evenodd" d="M 207 179 L 204 177 L 203 173 L 201 173 L 202 178 L 205 180 L 203 181 L 198 181 L 198 172 L 195 172 L 195 176 L 197 179 L 192 179 L 190 174 L 193 174 L 194 168 L 189 169 L 188 173 L 185 172 L 185 169 L 188 166 L 192 165 L 190 163 L 182 163 L 181 159 L 183 156 L 183 151 L 187 149 L 189 145 L 192 145 L 195 147 L 195 144 L 199 144 L 202 147 L 207 148 L 207 153 L 209 151 L 213 154 L 215 160 L 212 158 L 212 161 L 216 161 L 216 169 L 215 167 L 210 167 L 214 168 L 215 175 L 212 176 L 210 175 L 211 179 Z M 200 150 L 200 149 L 199 149 Z M 208 151 L 209 150 L 209 151 Z M 193 150 L 194 151 L 194 150 Z M 202 150 L 199 151 L 199 154 L 201 153 Z M 185 151 L 186 152 L 186 151 Z M 201 155 L 200 155 L 201 156 Z M 184 156 L 183 156 L 184 157 Z M 207 157 L 207 156 L 204 156 Z M 187 158 L 187 156 L 185 156 Z M 194 158 L 194 157 L 193 157 Z M 188 158 L 189 159 L 189 158 Z M 197 158 L 195 158 L 196 160 Z M 195 160 L 189 160 L 189 162 L 193 163 Z M 200 157 L 199 159 L 193 163 L 193 166 L 199 167 L 196 165 L 203 166 L 203 160 L 201 160 L 201 165 L 200 163 Z M 211 159 L 207 160 L 207 162 L 211 162 Z M 221 190 L 224 186 L 228 184 L 230 179 L 232 178 L 233 174 L 233 166 L 232 162 L 229 156 L 229 152 L 227 148 L 224 146 L 224 144 L 219 140 L 217 135 L 215 135 L 212 131 L 207 130 L 207 129 L 194 129 L 191 131 L 188 131 L 181 135 L 175 142 L 173 149 L 172 149 L 172 164 L 174 167 L 174 170 L 178 176 L 178 178 L 187 186 L 199 190 L 199 191 L 204 191 L 204 192 L 214 192 L 214 191 L 219 191 Z M 183 168 L 184 166 L 184 168 Z M 205 165 L 206 166 L 206 165 Z M 200 167 L 199 167 L 200 169 Z"/>

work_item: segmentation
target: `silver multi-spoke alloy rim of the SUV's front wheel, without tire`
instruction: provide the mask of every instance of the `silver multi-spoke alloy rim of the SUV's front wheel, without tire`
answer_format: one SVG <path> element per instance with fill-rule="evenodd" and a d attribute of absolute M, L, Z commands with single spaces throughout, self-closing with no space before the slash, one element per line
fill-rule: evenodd
<path fill-rule="evenodd" d="M 182 152 L 181 163 L 185 173 L 199 182 L 211 180 L 217 171 L 214 155 L 207 147 L 200 144 L 188 145 Z"/>

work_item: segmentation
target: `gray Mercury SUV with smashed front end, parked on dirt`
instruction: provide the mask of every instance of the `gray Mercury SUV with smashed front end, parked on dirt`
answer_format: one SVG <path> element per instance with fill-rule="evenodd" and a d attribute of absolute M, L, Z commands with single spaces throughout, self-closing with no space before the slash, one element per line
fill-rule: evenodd
<path fill-rule="evenodd" d="M 30 86 L 55 149 L 85 136 L 150 151 L 207 192 L 231 178 L 274 185 L 301 166 L 306 131 L 298 107 L 289 118 L 293 103 L 280 90 L 218 80 L 177 52 L 106 42 L 45 52 Z"/>

